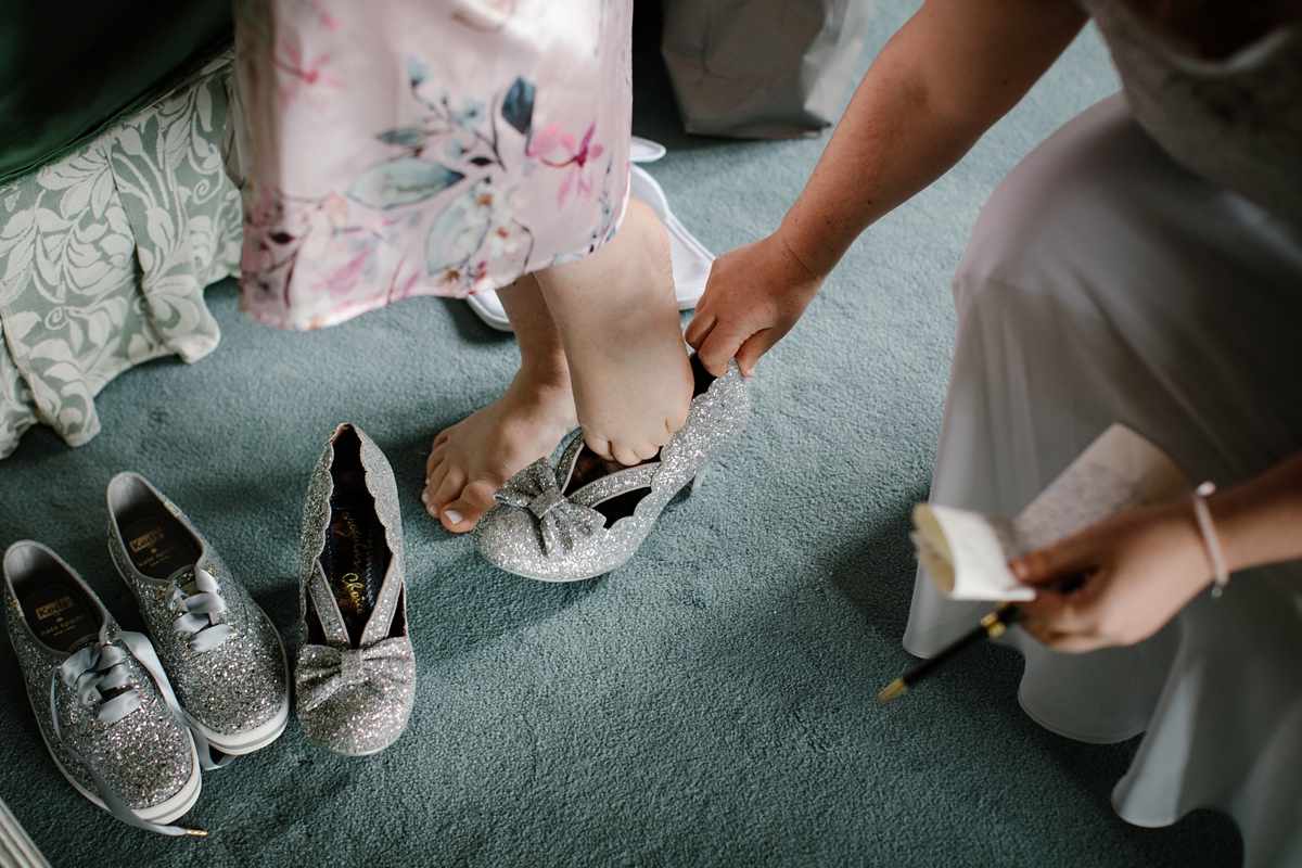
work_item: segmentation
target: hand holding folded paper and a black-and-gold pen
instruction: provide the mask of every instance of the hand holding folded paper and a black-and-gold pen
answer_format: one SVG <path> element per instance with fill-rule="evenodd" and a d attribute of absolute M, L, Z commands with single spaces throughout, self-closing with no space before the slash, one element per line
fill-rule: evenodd
<path fill-rule="evenodd" d="M 1082 576 L 1019 603 L 1022 627 L 1055 651 L 1133 645 L 1154 635 L 1211 584 L 1212 566 L 1189 502 L 1120 513 L 1009 562 L 1030 586 Z"/>

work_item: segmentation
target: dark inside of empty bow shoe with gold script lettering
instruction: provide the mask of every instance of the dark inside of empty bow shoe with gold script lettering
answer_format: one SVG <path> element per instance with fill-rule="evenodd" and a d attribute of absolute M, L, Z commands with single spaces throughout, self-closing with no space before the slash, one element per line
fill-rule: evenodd
<path fill-rule="evenodd" d="M 384 524 L 375 514 L 375 498 L 366 488 L 355 435 L 345 431 L 336 442 L 331 467 L 335 492 L 331 496 L 331 522 L 322 550 L 322 570 L 353 647 L 358 647 L 366 622 L 389 567 L 389 547 Z M 346 440 L 352 440 L 349 444 Z M 312 612 L 315 616 L 315 610 Z"/>

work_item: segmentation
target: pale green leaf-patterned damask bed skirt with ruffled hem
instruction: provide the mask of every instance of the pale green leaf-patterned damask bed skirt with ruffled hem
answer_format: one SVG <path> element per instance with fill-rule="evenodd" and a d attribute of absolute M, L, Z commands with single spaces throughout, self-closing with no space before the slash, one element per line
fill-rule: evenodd
<path fill-rule="evenodd" d="M 203 288 L 240 271 L 240 191 L 221 156 L 232 56 L 0 186 L 0 458 L 38 422 L 86 442 L 117 373 L 216 347 Z"/>

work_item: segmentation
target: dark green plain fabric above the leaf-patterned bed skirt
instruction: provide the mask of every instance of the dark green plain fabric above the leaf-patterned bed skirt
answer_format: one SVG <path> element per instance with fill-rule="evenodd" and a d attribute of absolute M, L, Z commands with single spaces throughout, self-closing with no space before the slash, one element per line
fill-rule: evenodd
<path fill-rule="evenodd" d="M 98 129 L 229 31 L 229 0 L 0 0 L 0 181 Z"/>

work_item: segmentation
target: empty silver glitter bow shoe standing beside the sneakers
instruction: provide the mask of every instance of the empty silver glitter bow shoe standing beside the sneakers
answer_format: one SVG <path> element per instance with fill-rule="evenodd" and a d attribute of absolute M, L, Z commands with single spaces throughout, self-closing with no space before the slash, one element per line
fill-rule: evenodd
<path fill-rule="evenodd" d="M 370 437 L 342 424 L 307 484 L 294 668 L 298 722 L 327 751 L 368 756 L 406 729 L 415 656 L 402 575 L 393 470 Z"/>

